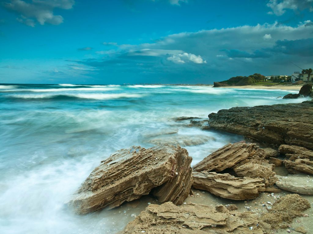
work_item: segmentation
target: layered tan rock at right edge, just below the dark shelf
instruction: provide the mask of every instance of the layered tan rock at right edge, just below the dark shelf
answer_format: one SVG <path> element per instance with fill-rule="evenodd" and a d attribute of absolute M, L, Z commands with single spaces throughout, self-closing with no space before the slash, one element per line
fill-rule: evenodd
<path fill-rule="evenodd" d="M 280 154 L 285 154 L 284 165 L 290 173 L 313 175 L 313 151 L 295 145 L 281 145 Z"/>

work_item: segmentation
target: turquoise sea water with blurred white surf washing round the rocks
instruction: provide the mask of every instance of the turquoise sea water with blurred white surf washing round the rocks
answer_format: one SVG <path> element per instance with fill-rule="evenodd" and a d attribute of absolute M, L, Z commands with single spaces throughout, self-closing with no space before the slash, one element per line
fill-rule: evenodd
<path fill-rule="evenodd" d="M 272 105 L 286 90 L 173 85 L 0 85 L 1 233 L 114 233 L 128 210 L 74 215 L 64 205 L 101 160 L 132 145 L 178 142 L 195 164 L 242 136 L 187 126 L 234 106 Z M 116 214 L 115 214 L 115 213 Z M 138 215 L 138 213 L 137 213 Z"/>

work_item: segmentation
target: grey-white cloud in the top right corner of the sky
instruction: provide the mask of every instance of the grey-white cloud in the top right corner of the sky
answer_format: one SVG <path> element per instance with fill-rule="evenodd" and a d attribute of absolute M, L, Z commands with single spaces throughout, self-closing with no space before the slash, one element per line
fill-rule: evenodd
<path fill-rule="evenodd" d="M 272 9 L 273 12 L 271 14 L 274 13 L 277 16 L 281 16 L 286 12 L 286 9 L 294 11 L 297 9 L 309 9 L 311 11 L 312 4 L 312 0 L 270 0 L 266 6 Z"/>

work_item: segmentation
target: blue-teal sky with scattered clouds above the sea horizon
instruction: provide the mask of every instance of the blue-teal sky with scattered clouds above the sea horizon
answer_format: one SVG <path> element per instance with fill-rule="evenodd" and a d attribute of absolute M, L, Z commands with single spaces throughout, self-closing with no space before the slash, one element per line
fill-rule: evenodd
<path fill-rule="evenodd" d="M 313 0 L 0 0 L 0 83 L 212 84 L 313 68 Z"/>

